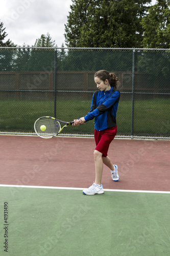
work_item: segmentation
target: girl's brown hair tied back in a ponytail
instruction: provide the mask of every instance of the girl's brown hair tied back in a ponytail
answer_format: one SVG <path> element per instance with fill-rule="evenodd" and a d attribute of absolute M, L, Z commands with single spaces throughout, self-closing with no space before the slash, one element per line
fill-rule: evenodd
<path fill-rule="evenodd" d="M 102 81 L 105 82 L 107 79 L 114 89 L 117 88 L 118 77 L 115 76 L 114 73 L 109 73 L 107 70 L 100 70 L 94 74 L 94 77 L 99 77 Z"/>

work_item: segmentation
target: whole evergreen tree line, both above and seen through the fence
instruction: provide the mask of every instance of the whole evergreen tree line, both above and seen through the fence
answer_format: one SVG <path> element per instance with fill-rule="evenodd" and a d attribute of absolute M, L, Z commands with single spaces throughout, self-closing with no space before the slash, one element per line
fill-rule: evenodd
<path fill-rule="evenodd" d="M 36 39 L 32 49 L 23 45 L 1 50 L 0 71 L 54 71 L 57 48 L 58 71 L 96 71 L 105 67 L 109 71 L 131 72 L 133 52 L 113 49 L 169 49 L 169 1 L 157 0 L 154 6 L 147 6 L 150 0 L 72 0 L 65 25 L 66 46 L 94 49 L 65 49 L 64 44 L 58 49 L 47 33 Z M 0 46 L 16 47 L 10 39 L 5 41 L 6 36 L 0 22 Z M 106 50 L 95 51 L 102 47 Z M 169 51 L 136 51 L 135 71 L 145 72 L 151 80 L 169 80 Z"/>

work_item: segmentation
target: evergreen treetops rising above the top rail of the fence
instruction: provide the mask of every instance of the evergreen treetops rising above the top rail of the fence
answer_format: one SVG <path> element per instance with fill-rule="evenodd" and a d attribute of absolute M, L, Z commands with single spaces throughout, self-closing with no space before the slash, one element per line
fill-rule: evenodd
<path fill-rule="evenodd" d="M 170 48 L 170 0 L 72 0 L 65 45 L 83 48 Z M 0 22 L 0 46 L 16 46 Z M 29 47 L 23 45 L 23 47 Z M 49 33 L 34 47 L 57 47 Z M 62 44 L 64 47 L 64 44 Z"/>

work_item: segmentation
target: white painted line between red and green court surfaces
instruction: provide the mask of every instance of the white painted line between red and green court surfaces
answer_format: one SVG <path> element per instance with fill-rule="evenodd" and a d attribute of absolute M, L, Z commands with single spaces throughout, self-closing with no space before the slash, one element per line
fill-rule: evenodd
<path fill-rule="evenodd" d="M 70 189 L 70 190 L 83 190 L 82 187 L 49 187 L 49 186 L 25 186 L 25 185 L 4 185 L 0 187 L 25 187 L 25 188 L 50 188 L 50 189 Z M 104 189 L 104 191 L 113 192 L 135 192 L 135 193 L 157 193 L 157 194 L 170 194 L 170 191 L 152 191 L 152 190 L 126 190 L 126 189 Z"/>

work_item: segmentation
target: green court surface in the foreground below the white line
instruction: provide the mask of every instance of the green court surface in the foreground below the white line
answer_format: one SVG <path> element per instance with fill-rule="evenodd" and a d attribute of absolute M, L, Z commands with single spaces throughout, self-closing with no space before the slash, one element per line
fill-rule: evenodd
<path fill-rule="evenodd" d="M 170 255 L 168 193 L 85 196 L 80 189 L 3 186 L 0 193 L 1 255 Z"/>

